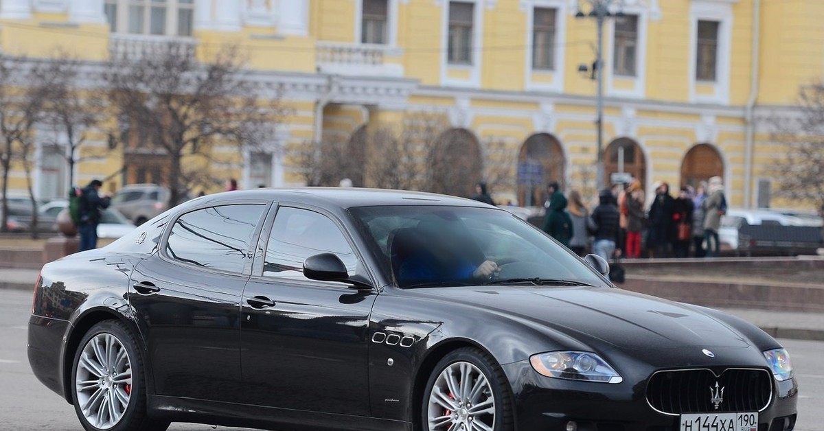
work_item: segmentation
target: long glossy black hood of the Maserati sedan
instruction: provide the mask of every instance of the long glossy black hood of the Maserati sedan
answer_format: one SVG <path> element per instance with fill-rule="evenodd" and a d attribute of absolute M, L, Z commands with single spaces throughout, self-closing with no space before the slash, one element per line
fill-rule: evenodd
<path fill-rule="evenodd" d="M 698 307 L 620 288 L 433 288 L 427 295 L 531 321 L 600 349 L 747 348 L 741 332 Z"/>

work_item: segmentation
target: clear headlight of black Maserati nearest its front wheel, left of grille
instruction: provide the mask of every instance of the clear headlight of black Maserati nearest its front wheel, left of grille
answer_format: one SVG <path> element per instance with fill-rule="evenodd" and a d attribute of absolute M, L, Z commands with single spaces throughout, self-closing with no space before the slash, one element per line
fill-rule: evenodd
<path fill-rule="evenodd" d="M 532 368 L 542 376 L 586 380 L 588 382 L 620 383 L 618 375 L 606 361 L 589 352 L 550 352 L 529 358 Z"/>

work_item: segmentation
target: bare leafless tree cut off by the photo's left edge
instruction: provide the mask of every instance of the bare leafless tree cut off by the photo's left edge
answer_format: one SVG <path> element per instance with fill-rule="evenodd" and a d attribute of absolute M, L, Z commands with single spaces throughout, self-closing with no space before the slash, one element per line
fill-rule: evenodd
<path fill-rule="evenodd" d="M 56 78 L 48 69 L 48 62 L 0 54 L 0 232 L 8 230 L 8 180 L 12 162 L 19 161 L 26 171 L 26 186 L 32 208 L 30 230 L 32 237 L 37 237 L 37 202 L 31 180 L 31 157 L 34 152 L 35 124 L 42 119 L 44 101 L 48 99 L 49 88 Z"/>

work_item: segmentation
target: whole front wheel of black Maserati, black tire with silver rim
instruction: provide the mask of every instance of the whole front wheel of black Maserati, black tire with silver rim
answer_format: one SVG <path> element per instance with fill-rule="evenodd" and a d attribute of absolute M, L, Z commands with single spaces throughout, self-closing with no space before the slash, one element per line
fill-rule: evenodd
<path fill-rule="evenodd" d="M 465 378 L 471 384 L 462 390 Z M 512 391 L 489 354 L 475 348 L 456 349 L 429 376 L 420 418 L 424 431 L 512 431 Z"/>

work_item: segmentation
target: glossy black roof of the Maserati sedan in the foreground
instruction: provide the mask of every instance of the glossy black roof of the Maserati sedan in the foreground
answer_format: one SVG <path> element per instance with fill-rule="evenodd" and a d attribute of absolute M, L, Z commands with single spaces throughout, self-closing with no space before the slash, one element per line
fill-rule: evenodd
<path fill-rule="evenodd" d="M 463 207 L 491 208 L 475 200 L 447 196 L 444 194 L 424 193 L 405 190 L 343 188 L 343 187 L 304 187 L 296 189 L 252 189 L 233 190 L 218 194 L 208 194 L 193 201 L 224 199 L 272 199 L 281 202 L 301 202 L 317 206 L 336 206 L 353 208 L 381 205 L 448 205 Z"/>

